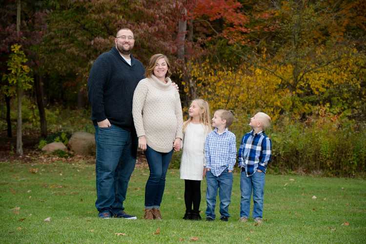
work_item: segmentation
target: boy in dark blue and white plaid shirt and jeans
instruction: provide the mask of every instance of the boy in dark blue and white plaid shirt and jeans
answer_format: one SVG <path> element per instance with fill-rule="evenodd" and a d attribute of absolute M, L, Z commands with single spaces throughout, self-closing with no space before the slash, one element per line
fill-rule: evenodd
<path fill-rule="evenodd" d="M 267 163 L 272 160 L 272 142 L 264 133 L 271 123 L 271 118 L 264 112 L 259 112 L 250 119 L 251 132 L 243 136 L 239 148 L 238 166 L 242 169 L 240 177 L 240 222 L 247 222 L 250 211 L 250 197 L 253 192 L 253 219 L 262 223 L 264 174 Z"/>

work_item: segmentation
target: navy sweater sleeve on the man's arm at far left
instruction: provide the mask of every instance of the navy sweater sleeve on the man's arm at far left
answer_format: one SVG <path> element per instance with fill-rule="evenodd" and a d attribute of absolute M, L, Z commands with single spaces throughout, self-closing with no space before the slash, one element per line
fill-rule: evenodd
<path fill-rule="evenodd" d="M 90 70 L 88 79 L 88 99 L 97 122 L 107 118 L 104 112 L 103 90 L 110 78 L 110 74 L 110 65 L 103 58 L 97 58 Z"/>

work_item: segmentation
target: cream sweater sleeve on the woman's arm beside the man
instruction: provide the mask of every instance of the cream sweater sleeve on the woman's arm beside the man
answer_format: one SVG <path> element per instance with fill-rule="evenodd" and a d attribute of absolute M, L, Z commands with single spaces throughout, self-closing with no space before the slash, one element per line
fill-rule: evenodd
<path fill-rule="evenodd" d="M 142 109 L 145 103 L 148 86 L 144 80 L 141 80 L 133 93 L 132 116 L 136 128 L 137 136 L 145 135 L 142 121 Z"/>

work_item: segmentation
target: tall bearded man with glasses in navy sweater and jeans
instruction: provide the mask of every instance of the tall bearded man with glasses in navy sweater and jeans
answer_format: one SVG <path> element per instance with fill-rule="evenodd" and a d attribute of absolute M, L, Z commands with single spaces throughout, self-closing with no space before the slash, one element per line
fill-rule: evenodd
<path fill-rule="evenodd" d="M 133 32 L 122 28 L 115 46 L 100 55 L 90 70 L 88 98 L 97 144 L 96 177 L 99 218 L 137 217 L 124 212 L 128 181 L 135 168 L 138 138 L 132 118 L 134 90 L 145 68 L 131 55 Z"/>

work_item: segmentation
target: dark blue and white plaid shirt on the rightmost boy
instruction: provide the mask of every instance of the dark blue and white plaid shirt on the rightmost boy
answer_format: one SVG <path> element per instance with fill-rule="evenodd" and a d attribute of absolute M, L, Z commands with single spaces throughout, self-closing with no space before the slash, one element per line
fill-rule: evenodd
<path fill-rule="evenodd" d="M 245 174 L 250 177 L 257 170 L 265 173 L 267 163 L 272 161 L 272 142 L 268 136 L 261 131 L 253 134 L 254 130 L 244 134 L 239 147 L 239 167 L 245 167 Z"/>

